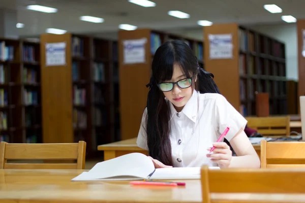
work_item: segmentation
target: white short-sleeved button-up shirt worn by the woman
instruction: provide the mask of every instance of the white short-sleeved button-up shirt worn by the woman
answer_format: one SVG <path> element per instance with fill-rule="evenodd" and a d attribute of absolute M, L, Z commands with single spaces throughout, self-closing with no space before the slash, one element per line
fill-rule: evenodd
<path fill-rule="evenodd" d="M 171 112 L 170 142 L 174 167 L 196 167 L 202 164 L 217 166 L 217 163 L 206 157 L 209 153 L 207 148 L 212 147 L 212 143 L 217 141 L 227 126 L 230 130 L 225 138 L 230 141 L 240 128 L 245 128 L 247 124 L 247 120 L 218 93 L 201 94 L 194 90 L 192 97 L 179 113 L 170 101 L 167 102 Z M 143 113 L 137 145 L 148 150 L 146 114 L 147 109 Z"/>

